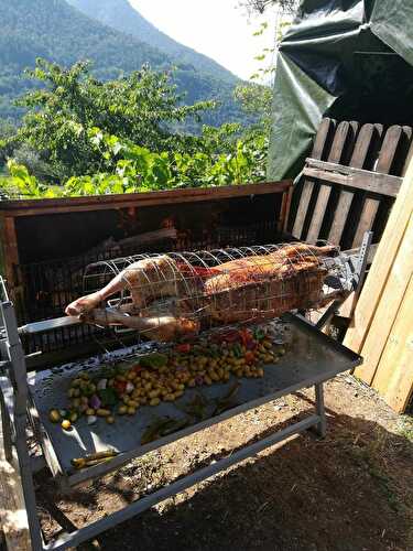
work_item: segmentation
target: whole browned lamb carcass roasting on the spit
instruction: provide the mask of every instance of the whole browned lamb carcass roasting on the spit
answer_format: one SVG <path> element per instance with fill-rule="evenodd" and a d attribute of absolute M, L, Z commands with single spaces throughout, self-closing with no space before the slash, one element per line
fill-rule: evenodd
<path fill-rule="evenodd" d="M 334 247 L 291 244 L 224 261 L 210 252 L 142 258 L 104 289 L 66 309 L 88 323 L 123 325 L 155 341 L 191 337 L 205 328 L 280 316 L 320 302 L 327 274 L 324 257 Z M 208 266 L 210 264 L 210 266 Z M 129 301 L 99 307 L 119 292 Z"/>

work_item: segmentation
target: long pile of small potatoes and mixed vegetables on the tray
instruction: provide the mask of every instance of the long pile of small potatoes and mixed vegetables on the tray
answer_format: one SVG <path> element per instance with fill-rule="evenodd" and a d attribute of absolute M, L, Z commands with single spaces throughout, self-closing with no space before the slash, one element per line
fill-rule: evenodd
<path fill-rule="evenodd" d="M 259 378 L 264 366 L 275 364 L 285 353 L 274 344 L 265 328 L 220 332 L 123 363 L 102 367 L 98 374 L 83 371 L 67 391 L 67 410 L 53 409 L 50 420 L 70 430 L 81 415 L 93 424 L 98 418 L 113 423 L 116 415 L 134 415 L 141 406 L 173 402 L 186 388 L 226 382 L 238 378 Z"/>

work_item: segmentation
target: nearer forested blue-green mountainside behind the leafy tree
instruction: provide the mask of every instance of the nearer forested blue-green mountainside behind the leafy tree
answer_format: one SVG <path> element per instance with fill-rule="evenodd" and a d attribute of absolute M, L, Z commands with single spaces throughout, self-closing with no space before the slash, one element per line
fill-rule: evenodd
<path fill-rule="evenodd" d="M 159 48 L 89 19 L 64 0 L 0 0 L 0 118 L 19 115 L 11 101 L 32 85 L 22 72 L 33 67 L 39 56 L 63 65 L 91 60 L 100 78 L 118 77 L 139 69 L 143 63 L 160 69 L 176 65 Z M 180 90 L 187 93 L 187 102 L 222 102 L 207 122 L 244 119 L 232 100 L 235 77 L 222 79 L 181 64 L 175 80 Z"/>

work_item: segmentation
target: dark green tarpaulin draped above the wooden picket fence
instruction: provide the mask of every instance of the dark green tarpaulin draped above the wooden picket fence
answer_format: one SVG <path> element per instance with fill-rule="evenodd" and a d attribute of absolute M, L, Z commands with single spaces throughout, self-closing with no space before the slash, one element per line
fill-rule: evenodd
<path fill-rule="evenodd" d="M 413 0 L 304 0 L 281 42 L 269 177 L 295 176 L 323 117 L 412 123 Z"/>

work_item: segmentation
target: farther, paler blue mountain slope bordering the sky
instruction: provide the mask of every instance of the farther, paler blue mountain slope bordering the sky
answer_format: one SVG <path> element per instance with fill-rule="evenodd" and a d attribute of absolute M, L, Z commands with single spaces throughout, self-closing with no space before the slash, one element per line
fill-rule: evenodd
<path fill-rule="evenodd" d="M 217 78 L 235 84 L 237 77 L 214 60 L 174 41 L 144 19 L 128 0 L 67 0 L 89 18 L 118 31 L 131 34 L 146 44 L 161 50 L 181 64 L 193 65 Z"/>

